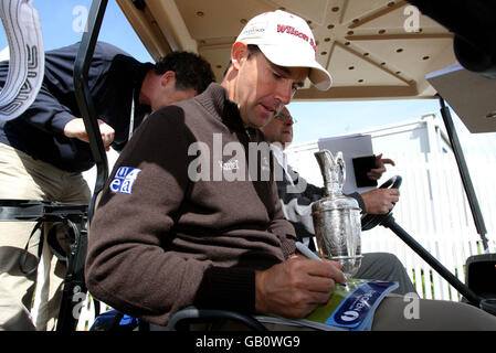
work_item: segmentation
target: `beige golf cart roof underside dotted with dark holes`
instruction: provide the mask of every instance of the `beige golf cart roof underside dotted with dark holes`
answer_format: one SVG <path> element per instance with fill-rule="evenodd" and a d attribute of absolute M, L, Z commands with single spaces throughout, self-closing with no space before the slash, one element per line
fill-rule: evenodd
<path fill-rule="evenodd" d="M 327 92 L 306 85 L 295 100 L 435 98 L 425 76 L 456 64 L 453 34 L 407 1 L 116 1 L 154 58 L 173 50 L 197 52 L 218 81 L 247 20 L 276 9 L 300 15 L 334 85 Z"/>

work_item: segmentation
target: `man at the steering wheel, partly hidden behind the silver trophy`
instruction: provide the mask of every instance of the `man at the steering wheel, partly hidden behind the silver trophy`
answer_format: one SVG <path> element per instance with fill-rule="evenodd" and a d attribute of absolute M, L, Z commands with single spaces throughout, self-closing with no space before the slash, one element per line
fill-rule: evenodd
<path fill-rule="evenodd" d="M 275 116 L 261 130 L 271 142 L 272 151 L 277 163 L 283 169 L 282 176 L 276 180 L 277 193 L 283 205 L 285 217 L 293 224 L 296 235 L 302 242 L 308 244 L 315 250 L 315 231 L 312 217 L 312 204 L 324 197 L 324 188 L 318 188 L 308 183 L 294 169 L 287 164 L 285 148 L 293 141 L 294 119 L 287 109 Z M 386 171 L 386 163 L 394 163 L 390 159 L 377 159 L 377 168 L 372 169 L 368 175 L 377 180 Z M 356 199 L 362 213 L 381 214 L 389 212 L 399 200 L 399 191 L 394 189 L 377 189 L 366 193 L 352 193 L 349 196 Z M 380 279 L 398 281 L 399 287 L 395 293 L 407 295 L 415 292 L 410 277 L 403 265 L 393 254 L 367 253 L 363 254 L 361 266 L 356 278 Z"/>

